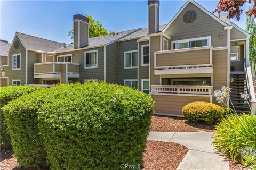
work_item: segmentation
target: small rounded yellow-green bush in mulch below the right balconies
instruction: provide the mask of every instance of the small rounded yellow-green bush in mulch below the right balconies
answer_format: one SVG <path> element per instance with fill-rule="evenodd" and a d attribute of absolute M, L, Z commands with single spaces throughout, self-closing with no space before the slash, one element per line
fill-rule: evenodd
<path fill-rule="evenodd" d="M 225 114 L 225 109 L 213 103 L 197 101 L 184 106 L 182 113 L 191 123 L 211 125 Z"/>

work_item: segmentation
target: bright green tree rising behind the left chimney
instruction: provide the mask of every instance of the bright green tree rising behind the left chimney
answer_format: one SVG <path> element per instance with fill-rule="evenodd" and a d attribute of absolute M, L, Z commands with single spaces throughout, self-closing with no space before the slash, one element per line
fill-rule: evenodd
<path fill-rule="evenodd" d="M 100 21 L 95 21 L 93 16 L 85 14 L 89 19 L 89 37 L 98 37 L 98 36 L 104 36 L 108 35 L 110 32 L 108 32 L 105 28 L 102 27 L 102 23 Z M 68 31 L 68 36 L 71 36 L 71 39 L 74 37 L 74 29 L 71 29 Z"/>

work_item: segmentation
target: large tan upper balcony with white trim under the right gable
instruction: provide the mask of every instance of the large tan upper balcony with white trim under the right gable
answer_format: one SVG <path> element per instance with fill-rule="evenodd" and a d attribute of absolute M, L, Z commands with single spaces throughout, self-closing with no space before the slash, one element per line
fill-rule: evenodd
<path fill-rule="evenodd" d="M 155 75 L 213 73 L 212 46 L 154 53 Z"/>

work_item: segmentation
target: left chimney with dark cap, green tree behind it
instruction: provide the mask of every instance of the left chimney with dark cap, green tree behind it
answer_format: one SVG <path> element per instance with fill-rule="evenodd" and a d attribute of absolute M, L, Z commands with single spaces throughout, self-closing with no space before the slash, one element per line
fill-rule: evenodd
<path fill-rule="evenodd" d="M 89 19 L 81 14 L 74 15 L 74 48 L 89 45 Z"/>

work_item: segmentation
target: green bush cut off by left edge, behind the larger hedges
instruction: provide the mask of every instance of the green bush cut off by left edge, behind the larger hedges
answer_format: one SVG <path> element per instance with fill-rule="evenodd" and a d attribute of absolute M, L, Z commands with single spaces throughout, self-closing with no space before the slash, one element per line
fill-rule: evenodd
<path fill-rule="evenodd" d="M 33 86 L 8 86 L 0 87 L 0 147 L 7 149 L 11 147 L 10 136 L 7 134 L 7 127 L 4 123 L 4 115 L 2 107 L 9 101 L 16 99 L 22 95 L 30 94 L 31 92 L 41 90 L 39 87 Z"/>

